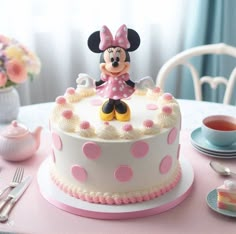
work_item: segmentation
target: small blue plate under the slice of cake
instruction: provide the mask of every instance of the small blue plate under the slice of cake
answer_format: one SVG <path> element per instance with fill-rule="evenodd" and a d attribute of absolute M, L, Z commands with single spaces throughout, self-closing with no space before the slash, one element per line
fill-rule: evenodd
<path fill-rule="evenodd" d="M 206 202 L 208 206 L 214 210 L 215 212 L 226 215 L 229 217 L 236 217 L 236 212 L 235 211 L 230 211 L 230 210 L 223 210 L 217 207 L 217 191 L 216 189 L 212 190 L 211 192 L 208 193 Z"/>

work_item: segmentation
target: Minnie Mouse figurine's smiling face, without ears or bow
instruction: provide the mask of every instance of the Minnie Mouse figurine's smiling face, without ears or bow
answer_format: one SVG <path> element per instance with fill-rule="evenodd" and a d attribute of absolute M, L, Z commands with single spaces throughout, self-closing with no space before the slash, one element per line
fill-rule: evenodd
<path fill-rule="evenodd" d="M 100 70 L 109 76 L 120 76 L 130 68 L 129 54 L 121 47 L 110 47 L 101 54 Z"/>

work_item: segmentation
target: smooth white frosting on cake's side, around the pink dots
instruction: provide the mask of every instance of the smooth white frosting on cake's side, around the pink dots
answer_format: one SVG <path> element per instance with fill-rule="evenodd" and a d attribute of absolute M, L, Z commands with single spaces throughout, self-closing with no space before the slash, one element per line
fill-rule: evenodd
<path fill-rule="evenodd" d="M 62 150 L 57 150 L 53 146 L 56 173 L 59 177 L 64 178 L 65 184 L 71 184 L 80 188 L 81 191 L 117 194 L 162 187 L 172 178 L 172 174 L 179 165 L 177 158 L 179 131 L 176 140 L 171 145 L 167 142 L 170 129 L 144 139 L 139 138 L 137 141 L 87 139 L 76 134 L 66 134 L 57 129 L 53 129 L 53 132 L 56 132 L 60 136 L 62 144 L 64 143 Z M 100 157 L 95 160 L 87 159 L 81 151 L 84 144 L 91 141 L 99 145 L 101 149 Z M 148 152 L 143 158 L 135 158 L 130 150 L 136 142 L 140 141 L 148 144 Z M 172 166 L 168 173 L 161 173 L 158 165 L 166 155 L 171 157 Z M 72 165 L 80 165 L 86 169 L 88 172 L 86 182 L 80 183 L 72 176 Z M 127 183 L 114 180 L 114 170 L 119 165 L 132 166 L 132 180 Z"/>

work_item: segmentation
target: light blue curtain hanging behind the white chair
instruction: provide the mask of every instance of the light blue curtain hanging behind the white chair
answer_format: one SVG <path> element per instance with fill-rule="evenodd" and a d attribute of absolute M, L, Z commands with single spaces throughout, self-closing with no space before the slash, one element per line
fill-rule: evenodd
<path fill-rule="evenodd" d="M 221 42 L 236 46 L 235 0 L 195 0 L 186 22 L 183 49 Z M 213 55 L 196 58 L 194 63 L 200 71 L 200 75 L 229 77 L 236 66 L 236 59 L 230 56 Z M 179 86 L 180 98 L 194 99 L 192 80 L 187 77 L 190 73 L 181 68 L 179 75 L 182 77 L 181 86 Z M 206 84 L 203 87 L 203 99 L 221 102 L 224 90 L 224 87 L 218 87 L 215 92 L 212 92 Z M 236 94 L 234 93 L 231 104 L 235 105 L 235 100 Z"/>

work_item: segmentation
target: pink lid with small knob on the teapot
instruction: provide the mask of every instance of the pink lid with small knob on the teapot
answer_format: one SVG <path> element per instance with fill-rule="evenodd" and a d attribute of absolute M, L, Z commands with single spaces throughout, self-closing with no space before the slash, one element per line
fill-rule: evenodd
<path fill-rule="evenodd" d="M 19 124 L 16 120 L 14 120 L 11 122 L 10 125 L 8 125 L 1 131 L 0 135 L 7 138 L 19 138 L 23 137 L 27 133 L 28 129 L 22 124 Z"/>

